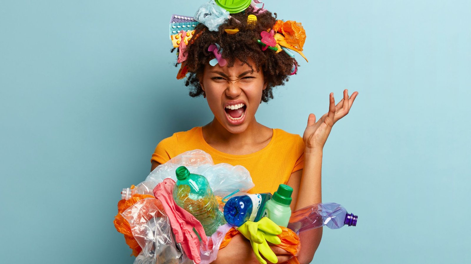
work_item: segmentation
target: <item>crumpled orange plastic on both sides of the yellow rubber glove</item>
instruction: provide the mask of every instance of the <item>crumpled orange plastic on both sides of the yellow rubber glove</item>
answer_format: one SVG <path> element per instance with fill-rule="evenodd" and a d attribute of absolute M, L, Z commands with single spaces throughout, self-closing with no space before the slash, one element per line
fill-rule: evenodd
<path fill-rule="evenodd" d="M 279 234 L 277 236 L 280 238 L 281 243 L 279 245 L 275 245 L 275 246 L 283 248 L 284 250 L 290 252 L 293 255 L 293 257 L 285 263 L 300 264 L 299 261 L 298 261 L 298 258 L 296 257 L 296 256 L 298 256 L 299 251 L 301 249 L 301 241 L 299 240 L 299 236 L 287 227 L 280 226 L 280 228 L 281 228 L 282 232 L 281 232 L 281 234 Z M 219 246 L 219 249 L 225 248 L 227 246 L 227 244 L 229 244 L 231 239 L 237 233 L 239 233 L 239 231 L 237 231 L 234 227 L 229 229 L 229 231 L 227 231 L 227 233 L 226 233 L 226 236 L 224 237 L 224 240 L 222 241 L 221 245 Z"/>

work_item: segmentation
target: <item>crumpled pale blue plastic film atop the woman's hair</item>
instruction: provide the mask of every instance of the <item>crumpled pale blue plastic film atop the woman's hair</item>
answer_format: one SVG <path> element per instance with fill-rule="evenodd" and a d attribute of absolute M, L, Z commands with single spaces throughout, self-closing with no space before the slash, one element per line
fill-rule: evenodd
<path fill-rule="evenodd" d="M 219 7 L 214 0 L 204 3 L 195 14 L 195 20 L 204 24 L 210 31 L 219 31 L 219 25 L 229 17 L 229 11 Z"/>

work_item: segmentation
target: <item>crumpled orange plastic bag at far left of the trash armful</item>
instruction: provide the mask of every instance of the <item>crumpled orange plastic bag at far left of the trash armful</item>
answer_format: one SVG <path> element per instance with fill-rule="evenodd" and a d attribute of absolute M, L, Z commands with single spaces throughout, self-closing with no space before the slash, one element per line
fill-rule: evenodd
<path fill-rule="evenodd" d="M 132 186 L 131 186 L 132 189 Z M 124 212 L 126 209 L 130 208 L 131 205 L 135 204 L 136 202 L 145 199 L 145 198 L 155 198 L 154 195 L 149 194 L 133 194 L 131 198 L 126 200 L 120 200 L 118 202 L 118 214 L 114 217 L 114 227 L 119 233 L 124 235 L 124 239 L 126 240 L 126 244 L 132 249 L 132 255 L 138 256 L 139 253 L 142 251 L 142 248 L 139 246 L 136 239 L 131 232 L 131 227 L 129 226 L 128 221 L 122 217 L 121 213 Z"/>

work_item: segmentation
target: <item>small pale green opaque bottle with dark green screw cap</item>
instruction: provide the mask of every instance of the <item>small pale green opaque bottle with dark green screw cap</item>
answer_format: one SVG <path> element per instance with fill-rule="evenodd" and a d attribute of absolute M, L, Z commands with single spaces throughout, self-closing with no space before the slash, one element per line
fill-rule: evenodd
<path fill-rule="evenodd" d="M 287 227 L 291 217 L 291 194 L 293 188 L 286 184 L 280 184 L 271 200 L 265 203 L 262 217 L 268 217 L 276 225 Z"/>

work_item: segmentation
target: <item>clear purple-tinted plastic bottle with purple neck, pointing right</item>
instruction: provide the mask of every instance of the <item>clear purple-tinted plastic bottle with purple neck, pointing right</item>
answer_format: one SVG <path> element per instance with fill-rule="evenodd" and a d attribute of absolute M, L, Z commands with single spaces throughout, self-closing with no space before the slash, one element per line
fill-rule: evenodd
<path fill-rule="evenodd" d="M 357 219 L 358 216 L 349 214 L 338 203 L 317 203 L 294 211 L 288 228 L 294 232 L 302 232 L 324 225 L 330 229 L 339 229 L 344 225 L 356 226 Z"/>

